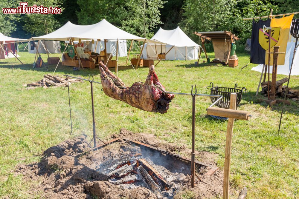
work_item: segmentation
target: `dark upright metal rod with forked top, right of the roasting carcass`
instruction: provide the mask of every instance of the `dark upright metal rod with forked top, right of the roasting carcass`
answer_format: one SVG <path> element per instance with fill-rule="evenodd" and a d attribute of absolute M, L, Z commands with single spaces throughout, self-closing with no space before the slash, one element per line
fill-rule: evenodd
<path fill-rule="evenodd" d="M 191 152 L 191 187 L 192 188 L 194 188 L 194 182 L 195 182 L 195 95 L 192 95 L 192 152 Z"/>

